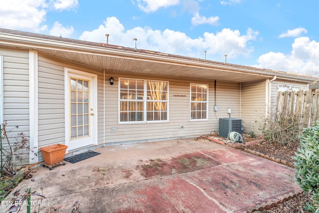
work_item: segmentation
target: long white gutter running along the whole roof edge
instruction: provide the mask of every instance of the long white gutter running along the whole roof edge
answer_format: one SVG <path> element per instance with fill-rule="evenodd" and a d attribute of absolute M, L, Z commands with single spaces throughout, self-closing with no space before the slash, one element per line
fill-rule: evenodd
<path fill-rule="evenodd" d="M 291 74 L 286 74 L 279 71 L 260 69 L 260 68 L 250 68 L 248 66 L 241 66 L 236 64 L 225 64 L 219 62 L 213 62 L 208 60 L 195 60 L 195 58 L 180 58 L 176 57 L 177 55 L 169 55 L 163 53 L 151 53 L 152 51 L 142 52 L 136 51 L 134 49 L 126 50 L 122 49 L 122 47 L 118 46 L 118 49 L 107 48 L 106 46 L 102 46 L 99 43 L 92 42 L 92 45 L 81 44 L 81 43 L 72 43 L 66 41 L 58 41 L 51 40 L 47 38 L 37 38 L 32 36 L 25 35 L 16 35 L 9 33 L 0 33 L 0 42 L 3 44 L 16 45 L 28 47 L 31 49 L 38 48 L 40 49 L 50 49 L 56 51 L 63 52 L 73 52 L 80 54 L 89 54 L 89 55 L 97 55 L 104 57 L 114 57 L 114 58 L 126 58 L 131 60 L 139 60 L 139 61 L 149 61 L 156 63 L 165 63 L 172 65 L 182 65 L 182 66 L 190 66 L 190 67 L 198 67 L 198 68 L 206 68 L 206 69 L 215 69 L 224 72 L 236 72 L 250 75 L 258 75 L 266 78 L 273 77 L 274 74 L 283 79 L 296 79 L 304 82 L 313 82 L 315 78 L 306 77 L 306 76 L 296 76 Z M 72 39 L 70 39 L 72 40 Z M 81 40 L 79 40 L 81 41 Z M 96 45 L 94 45 L 96 44 Z M 126 48 L 126 47 L 125 47 Z M 129 49 L 129 48 L 128 48 Z M 319 80 L 319 79 L 317 79 Z"/>

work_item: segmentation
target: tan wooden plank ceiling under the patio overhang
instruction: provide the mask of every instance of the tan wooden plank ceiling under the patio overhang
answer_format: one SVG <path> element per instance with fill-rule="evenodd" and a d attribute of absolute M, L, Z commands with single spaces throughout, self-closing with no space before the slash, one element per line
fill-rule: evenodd
<path fill-rule="evenodd" d="M 13 45 L 5 45 L 7 47 L 15 47 Z M 26 47 L 22 47 L 26 49 Z M 90 54 L 67 50 L 52 50 L 49 48 L 32 48 L 41 53 L 63 58 L 76 63 L 88 65 L 100 70 L 127 72 L 136 74 L 156 75 L 172 78 L 192 78 L 205 80 L 224 80 L 232 82 L 249 82 L 269 78 L 265 75 L 256 75 L 252 73 L 240 73 L 239 71 L 231 71 L 201 67 L 196 64 L 178 64 L 167 63 L 165 61 L 145 60 L 143 58 L 126 58 L 121 56 L 110 56 L 104 54 Z"/>

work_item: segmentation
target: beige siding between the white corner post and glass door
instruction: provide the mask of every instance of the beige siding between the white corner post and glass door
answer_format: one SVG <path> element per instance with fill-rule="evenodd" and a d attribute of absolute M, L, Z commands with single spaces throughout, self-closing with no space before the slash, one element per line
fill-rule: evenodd
<path fill-rule="evenodd" d="M 64 66 L 38 56 L 38 146 L 64 144 Z"/>

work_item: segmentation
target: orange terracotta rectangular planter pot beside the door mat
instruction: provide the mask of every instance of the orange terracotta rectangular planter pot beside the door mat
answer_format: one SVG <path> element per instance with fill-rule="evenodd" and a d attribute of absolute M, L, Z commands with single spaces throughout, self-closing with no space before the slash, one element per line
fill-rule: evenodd
<path fill-rule="evenodd" d="M 62 144 L 54 144 L 47 147 L 41 147 L 41 153 L 44 163 L 54 165 L 60 163 L 64 159 L 65 151 L 68 146 Z"/>

